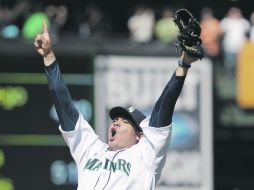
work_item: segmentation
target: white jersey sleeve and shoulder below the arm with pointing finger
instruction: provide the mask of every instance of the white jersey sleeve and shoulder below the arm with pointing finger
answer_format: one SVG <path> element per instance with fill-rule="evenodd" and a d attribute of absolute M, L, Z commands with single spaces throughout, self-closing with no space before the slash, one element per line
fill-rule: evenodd
<path fill-rule="evenodd" d="M 99 139 L 93 128 L 81 114 L 79 114 L 74 130 L 65 131 L 62 129 L 61 125 L 59 126 L 59 130 L 62 133 L 62 136 L 70 149 L 71 155 L 77 164 L 81 162 L 90 149 L 100 149 L 106 147 L 106 144 Z"/>

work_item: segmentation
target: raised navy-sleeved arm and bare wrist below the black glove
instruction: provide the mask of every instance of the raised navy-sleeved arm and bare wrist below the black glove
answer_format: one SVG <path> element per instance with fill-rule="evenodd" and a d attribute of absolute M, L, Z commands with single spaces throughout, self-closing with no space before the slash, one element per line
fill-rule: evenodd
<path fill-rule="evenodd" d="M 188 69 L 191 63 L 196 60 L 198 58 L 191 57 L 184 51 L 182 52 L 176 71 L 155 103 L 149 122 L 150 126 L 164 127 L 171 124 L 175 104 L 181 93 Z"/>

